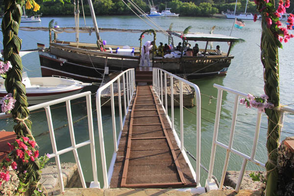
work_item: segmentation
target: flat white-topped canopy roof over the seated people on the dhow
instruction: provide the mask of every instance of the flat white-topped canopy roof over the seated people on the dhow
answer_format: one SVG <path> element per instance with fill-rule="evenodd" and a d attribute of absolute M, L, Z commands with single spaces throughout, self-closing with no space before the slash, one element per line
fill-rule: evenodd
<path fill-rule="evenodd" d="M 180 37 L 182 36 L 179 32 L 170 32 L 170 34 Z M 213 41 L 213 42 L 235 42 L 239 40 L 239 38 L 230 37 L 221 34 L 209 34 L 209 33 L 187 33 L 185 34 L 185 38 L 187 41 Z"/>

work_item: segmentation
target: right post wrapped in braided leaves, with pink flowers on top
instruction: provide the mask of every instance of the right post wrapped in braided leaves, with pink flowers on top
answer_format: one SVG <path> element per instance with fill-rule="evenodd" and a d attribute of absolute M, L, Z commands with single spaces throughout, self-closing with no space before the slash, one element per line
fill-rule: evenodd
<path fill-rule="evenodd" d="M 279 0 L 278 8 L 275 8 L 274 0 L 254 0 L 257 4 L 257 11 L 262 17 L 262 35 L 261 35 L 261 62 L 264 68 L 264 91 L 269 97 L 274 109 L 265 109 L 268 116 L 267 132 L 267 150 L 268 161 L 267 169 L 267 188 L 266 196 L 277 195 L 278 171 L 277 171 L 277 148 L 279 147 L 279 138 L 281 124 L 280 121 L 280 98 L 279 98 L 279 59 L 278 48 L 282 48 L 281 42 L 287 43 L 294 36 L 288 33 L 287 29 L 292 29 L 294 15 L 290 14 L 287 28 L 282 27 L 279 21 L 280 14 L 286 12 L 290 6 L 290 0 Z M 285 4 L 284 4 L 285 3 Z M 257 15 L 254 16 L 254 22 Z"/>

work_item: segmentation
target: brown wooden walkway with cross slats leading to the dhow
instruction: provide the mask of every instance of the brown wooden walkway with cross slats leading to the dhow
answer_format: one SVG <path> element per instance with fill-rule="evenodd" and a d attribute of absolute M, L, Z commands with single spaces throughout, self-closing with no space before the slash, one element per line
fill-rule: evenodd
<path fill-rule="evenodd" d="M 137 86 L 110 188 L 196 187 L 151 86 Z"/>

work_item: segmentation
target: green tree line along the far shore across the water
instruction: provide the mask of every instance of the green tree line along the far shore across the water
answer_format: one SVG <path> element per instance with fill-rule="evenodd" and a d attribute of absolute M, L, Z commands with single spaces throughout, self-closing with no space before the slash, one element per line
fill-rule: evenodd
<path fill-rule="evenodd" d="M 3 0 L 0 4 L 3 5 Z M 148 0 L 133 0 L 144 12 L 150 12 Z M 181 0 L 153 0 L 154 6 L 160 12 L 166 7 L 172 8 L 172 12 L 180 14 L 180 16 L 212 16 L 217 13 L 226 12 L 227 10 L 234 11 L 235 0 L 185 0 L 189 2 L 182 2 Z M 277 0 L 276 0 L 277 1 Z M 291 6 L 287 8 L 287 12 L 291 13 L 294 8 L 294 0 L 291 1 Z M 64 4 L 59 1 L 50 0 L 36 0 L 41 5 L 40 10 L 36 13 L 32 10 L 26 10 L 26 15 L 41 14 L 43 16 L 73 16 L 74 1 L 65 1 Z M 77 1 L 75 1 L 77 4 Z M 82 14 L 83 2 L 84 14 L 91 16 L 88 1 L 79 1 L 79 9 Z M 129 9 L 134 7 L 127 0 L 92 0 L 96 15 L 134 15 Z M 276 2 L 278 4 L 278 1 Z M 129 6 L 129 7 L 128 7 Z M 236 12 L 245 12 L 246 0 L 238 0 Z M 136 11 L 137 12 L 137 11 Z M 248 0 L 246 12 L 256 13 L 256 5 L 254 1 Z M 0 13 L 3 14 L 3 6 L 0 7 Z M 137 12 L 138 13 L 138 12 Z"/>

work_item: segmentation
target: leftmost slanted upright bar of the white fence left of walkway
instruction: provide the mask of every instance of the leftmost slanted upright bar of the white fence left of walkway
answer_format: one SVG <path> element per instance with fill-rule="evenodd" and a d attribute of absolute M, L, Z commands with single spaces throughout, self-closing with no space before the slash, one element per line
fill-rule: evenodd
<path fill-rule="evenodd" d="M 51 118 L 50 106 L 46 106 L 45 110 L 46 110 L 47 122 L 48 122 L 48 126 L 49 126 L 49 133 L 50 133 L 52 150 L 53 150 L 53 153 L 56 154 L 57 153 L 57 147 L 56 147 L 56 141 L 55 141 L 52 118 Z M 56 162 L 56 166 L 57 166 L 57 170 L 58 170 L 58 179 L 59 179 L 59 185 L 60 185 L 60 192 L 63 193 L 64 192 L 64 185 L 63 185 L 63 178 L 62 178 L 62 173 L 61 173 L 60 159 L 59 159 L 58 154 L 56 154 L 56 156 L 55 156 L 55 162 Z"/>

